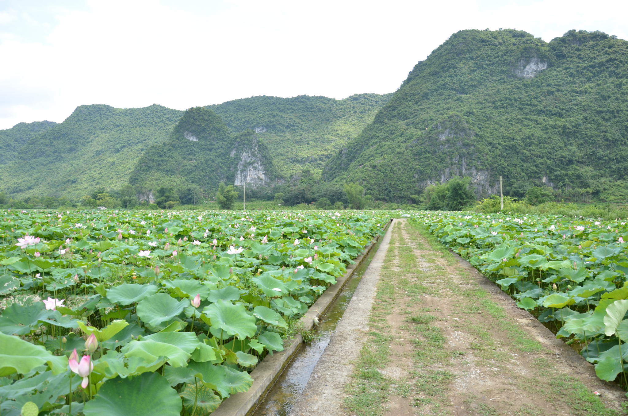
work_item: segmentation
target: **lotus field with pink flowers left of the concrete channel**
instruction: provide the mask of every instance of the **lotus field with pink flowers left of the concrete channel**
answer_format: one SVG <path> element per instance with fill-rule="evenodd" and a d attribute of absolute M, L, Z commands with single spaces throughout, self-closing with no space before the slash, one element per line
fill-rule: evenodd
<path fill-rule="evenodd" d="M 207 415 L 387 217 L 0 212 L 0 414 Z"/>

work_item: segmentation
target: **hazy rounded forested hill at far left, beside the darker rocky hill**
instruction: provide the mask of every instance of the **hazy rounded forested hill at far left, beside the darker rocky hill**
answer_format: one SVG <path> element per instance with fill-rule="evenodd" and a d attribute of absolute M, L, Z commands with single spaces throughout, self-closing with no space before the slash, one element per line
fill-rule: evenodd
<path fill-rule="evenodd" d="M 14 197 L 80 197 L 118 189 L 144 150 L 161 143 L 183 111 L 153 105 L 120 109 L 78 106 L 63 123 L 33 136 L 14 161 L 0 165 L 0 183 Z"/>

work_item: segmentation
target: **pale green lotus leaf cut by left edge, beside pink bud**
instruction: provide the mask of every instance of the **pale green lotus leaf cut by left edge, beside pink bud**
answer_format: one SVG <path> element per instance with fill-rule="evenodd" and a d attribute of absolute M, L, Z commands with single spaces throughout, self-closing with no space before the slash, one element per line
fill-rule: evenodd
<path fill-rule="evenodd" d="M 43 364 L 48 364 L 53 375 L 57 375 L 68 368 L 68 358 L 53 356 L 43 346 L 0 333 L 0 377 L 28 373 Z"/>

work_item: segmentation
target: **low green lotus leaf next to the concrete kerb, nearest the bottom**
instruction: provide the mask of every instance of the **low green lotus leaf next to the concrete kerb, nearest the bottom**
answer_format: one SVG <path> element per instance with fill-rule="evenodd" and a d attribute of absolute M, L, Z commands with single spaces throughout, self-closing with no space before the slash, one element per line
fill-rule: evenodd
<path fill-rule="evenodd" d="M 222 397 L 247 391 L 253 384 L 253 379 L 246 371 L 195 361 L 190 361 L 189 366 L 195 376 L 201 378 L 207 387 L 218 391 Z"/>

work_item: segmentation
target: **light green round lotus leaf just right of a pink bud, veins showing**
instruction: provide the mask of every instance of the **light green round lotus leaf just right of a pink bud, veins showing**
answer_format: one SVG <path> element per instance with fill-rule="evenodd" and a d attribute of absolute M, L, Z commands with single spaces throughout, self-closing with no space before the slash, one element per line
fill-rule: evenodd
<path fill-rule="evenodd" d="M 255 318 L 245 312 L 242 304 L 234 305 L 219 299 L 215 304 L 205 307 L 203 314 L 212 320 L 212 327 L 236 334 L 239 339 L 252 337 L 257 331 Z"/>

